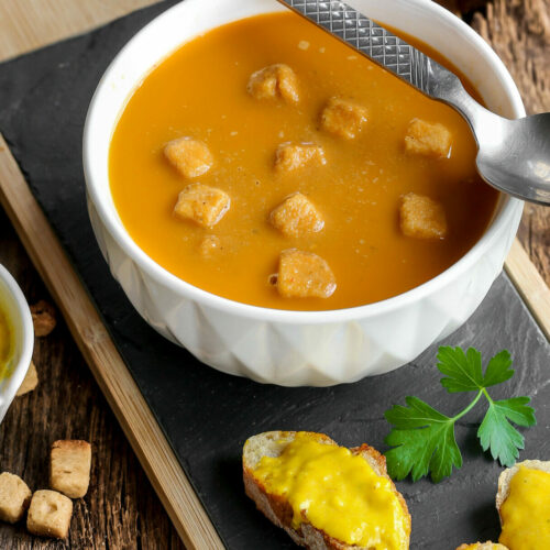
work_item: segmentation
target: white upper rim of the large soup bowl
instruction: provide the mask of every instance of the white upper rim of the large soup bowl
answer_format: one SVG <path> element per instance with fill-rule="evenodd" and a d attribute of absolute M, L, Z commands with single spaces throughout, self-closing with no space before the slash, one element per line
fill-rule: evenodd
<path fill-rule="evenodd" d="M 485 230 L 482 238 L 470 249 L 459 261 L 448 267 L 446 271 L 436 277 L 427 280 L 426 283 L 411 288 L 403 294 L 364 306 L 355 306 L 352 308 L 330 309 L 330 310 L 314 310 L 314 311 L 297 311 L 286 309 L 273 309 L 260 306 L 243 304 L 229 298 L 223 298 L 216 294 L 202 290 L 199 287 L 186 283 L 176 275 L 169 273 L 167 270 L 157 264 L 130 237 L 121 221 L 114 220 L 108 208 L 103 204 L 103 197 L 99 189 L 94 185 L 96 167 L 92 163 L 94 150 L 94 127 L 95 120 L 100 117 L 101 103 L 100 98 L 106 87 L 106 82 L 114 70 L 117 59 L 124 54 L 128 50 L 132 48 L 134 44 L 142 40 L 151 29 L 156 25 L 162 25 L 163 21 L 172 16 L 173 11 L 182 9 L 183 6 L 190 7 L 198 3 L 199 0 L 187 0 L 186 2 L 178 3 L 158 16 L 153 19 L 147 25 L 139 31 L 117 54 L 107 70 L 105 72 L 101 80 L 91 99 L 86 123 L 84 129 L 82 140 L 82 162 L 86 178 L 86 186 L 89 197 L 91 198 L 95 208 L 102 221 L 107 227 L 109 233 L 114 238 L 119 246 L 134 261 L 141 270 L 143 270 L 150 277 L 160 283 L 161 285 L 169 288 L 175 294 L 187 298 L 210 308 L 217 309 L 220 312 L 256 319 L 257 321 L 273 321 L 278 323 L 292 324 L 318 324 L 318 323 L 336 323 L 342 321 L 353 321 L 358 319 L 366 319 L 378 316 L 381 314 L 389 312 L 395 309 L 407 306 L 410 302 L 417 301 L 433 294 L 438 289 L 448 285 L 451 280 L 460 277 L 461 274 L 466 272 L 480 257 L 491 249 L 494 241 L 498 238 L 504 227 L 513 224 L 515 219 L 519 217 L 522 209 L 522 201 L 513 198 L 504 198 L 504 205 L 501 211 L 495 216 L 491 226 Z M 525 117 L 525 108 L 521 102 L 519 91 L 512 79 L 508 70 L 504 66 L 501 58 L 490 47 L 490 45 L 466 23 L 453 15 L 444 8 L 438 6 L 430 0 L 408 0 L 410 4 L 416 4 L 417 8 L 433 12 L 435 16 L 442 18 L 446 23 L 457 29 L 460 33 L 474 45 L 474 47 L 484 55 L 486 62 L 492 66 L 494 74 L 498 77 L 503 89 L 505 90 L 508 100 L 510 101 L 514 114 L 516 117 Z M 452 61 L 452 59 L 451 59 Z M 143 74 L 146 74 L 150 67 L 144 67 Z"/>

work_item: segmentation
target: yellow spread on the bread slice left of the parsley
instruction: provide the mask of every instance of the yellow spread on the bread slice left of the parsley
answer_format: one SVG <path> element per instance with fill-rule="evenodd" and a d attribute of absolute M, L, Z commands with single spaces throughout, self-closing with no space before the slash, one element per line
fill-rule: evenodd
<path fill-rule="evenodd" d="M 408 548 L 408 517 L 389 480 L 349 449 L 298 432 L 279 457 L 263 457 L 254 473 L 268 493 L 286 497 L 294 528 L 305 516 L 314 527 L 349 544 Z"/>

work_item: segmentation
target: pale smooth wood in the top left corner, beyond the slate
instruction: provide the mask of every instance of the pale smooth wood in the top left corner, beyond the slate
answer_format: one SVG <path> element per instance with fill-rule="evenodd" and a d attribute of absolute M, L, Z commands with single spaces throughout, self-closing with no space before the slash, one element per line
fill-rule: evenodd
<path fill-rule="evenodd" d="M 0 62 L 158 0 L 1 0 Z"/>

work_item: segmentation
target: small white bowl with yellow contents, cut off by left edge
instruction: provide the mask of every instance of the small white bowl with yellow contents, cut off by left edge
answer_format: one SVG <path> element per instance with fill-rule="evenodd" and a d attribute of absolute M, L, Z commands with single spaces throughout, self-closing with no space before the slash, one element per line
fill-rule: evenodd
<path fill-rule="evenodd" d="M 6 312 L 13 330 L 14 349 L 11 374 L 0 378 L 0 422 L 23 383 L 31 364 L 34 348 L 34 328 L 29 305 L 15 279 L 0 264 L 0 308 Z"/>

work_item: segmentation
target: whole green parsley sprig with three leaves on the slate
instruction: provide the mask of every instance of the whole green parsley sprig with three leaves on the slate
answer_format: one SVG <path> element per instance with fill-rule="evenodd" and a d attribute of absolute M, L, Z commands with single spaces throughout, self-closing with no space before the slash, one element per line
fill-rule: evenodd
<path fill-rule="evenodd" d="M 449 417 L 417 397 L 406 397 L 406 407 L 394 405 L 385 417 L 393 426 L 385 442 L 393 449 L 386 452 L 388 473 L 395 480 L 411 475 L 413 481 L 431 473 L 433 482 L 451 475 L 462 466 L 462 454 L 454 439 L 457 420 L 470 413 L 485 397 L 488 407 L 477 430 L 484 451 L 491 450 L 503 466 L 513 466 L 524 449 L 524 436 L 512 425 L 535 426 L 535 410 L 528 407 L 529 397 L 494 400 L 487 388 L 512 378 L 510 354 L 497 353 L 482 371 L 481 353 L 470 348 L 442 346 L 438 352 L 438 369 L 444 375 L 441 385 L 450 393 L 476 392 L 473 400 L 459 414 Z"/>

